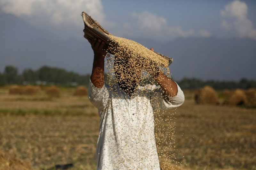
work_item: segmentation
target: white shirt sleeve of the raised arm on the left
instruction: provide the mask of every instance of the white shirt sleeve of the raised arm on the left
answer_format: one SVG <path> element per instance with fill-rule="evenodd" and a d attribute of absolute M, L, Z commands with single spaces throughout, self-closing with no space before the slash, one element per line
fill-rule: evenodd
<path fill-rule="evenodd" d="M 107 85 L 103 85 L 102 88 L 99 89 L 92 84 L 90 79 L 88 98 L 93 106 L 95 106 L 99 111 L 102 111 L 106 107 L 109 98 Z"/>

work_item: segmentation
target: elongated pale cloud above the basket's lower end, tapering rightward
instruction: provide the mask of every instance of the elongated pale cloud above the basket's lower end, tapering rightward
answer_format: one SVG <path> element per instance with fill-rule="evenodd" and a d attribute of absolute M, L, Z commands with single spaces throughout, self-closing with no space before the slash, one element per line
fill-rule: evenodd
<path fill-rule="evenodd" d="M 140 35 L 148 35 L 151 38 L 157 38 L 158 40 L 168 41 L 177 37 L 209 37 L 212 34 L 206 30 L 201 30 L 196 33 L 193 29 L 184 30 L 180 26 L 169 26 L 167 20 L 163 17 L 159 17 L 148 11 L 141 13 L 132 13 L 133 21 L 131 23 L 125 23 L 124 29 L 130 30 L 133 28 L 133 32 L 137 32 Z M 138 29 L 139 28 L 139 29 Z"/>

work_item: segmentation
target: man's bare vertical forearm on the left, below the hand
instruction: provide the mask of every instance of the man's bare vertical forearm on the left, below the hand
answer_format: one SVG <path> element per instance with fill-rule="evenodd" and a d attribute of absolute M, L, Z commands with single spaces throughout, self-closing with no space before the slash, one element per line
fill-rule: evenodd
<path fill-rule="evenodd" d="M 104 56 L 94 55 L 91 82 L 97 88 L 102 88 L 104 85 Z"/>

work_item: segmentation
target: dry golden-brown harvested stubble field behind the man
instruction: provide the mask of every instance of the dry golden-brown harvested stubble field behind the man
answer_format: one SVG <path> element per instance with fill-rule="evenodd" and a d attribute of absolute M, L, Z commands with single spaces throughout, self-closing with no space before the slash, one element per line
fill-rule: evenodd
<path fill-rule="evenodd" d="M 60 98 L 49 98 L 0 89 L 0 151 L 36 170 L 69 163 L 74 164 L 71 170 L 96 169 L 99 116 L 88 98 L 74 96 L 74 90 L 62 89 Z M 195 105 L 193 96 L 186 91 L 181 107 L 163 113 L 176 112 L 171 121 L 176 148 L 160 152 L 174 153 L 180 169 L 255 169 L 256 109 Z"/>

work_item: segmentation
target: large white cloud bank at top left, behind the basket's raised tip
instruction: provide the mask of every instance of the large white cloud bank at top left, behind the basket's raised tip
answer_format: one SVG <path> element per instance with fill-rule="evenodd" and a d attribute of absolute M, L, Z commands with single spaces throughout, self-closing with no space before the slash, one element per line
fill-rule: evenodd
<path fill-rule="evenodd" d="M 0 0 L 0 8 L 5 13 L 28 18 L 36 22 L 53 25 L 73 24 L 81 26 L 82 11 L 87 12 L 99 22 L 106 22 L 100 0 Z M 39 21 L 37 21 L 39 22 Z"/>

